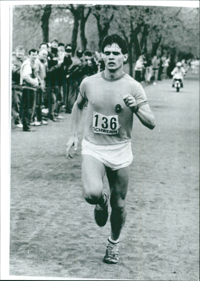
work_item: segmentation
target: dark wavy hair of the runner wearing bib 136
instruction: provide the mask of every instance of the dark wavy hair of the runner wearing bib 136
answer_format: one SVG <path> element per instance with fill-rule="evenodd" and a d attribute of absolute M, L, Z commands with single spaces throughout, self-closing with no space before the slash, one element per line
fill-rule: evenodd
<path fill-rule="evenodd" d="M 125 38 L 118 34 L 111 34 L 104 38 L 101 46 L 102 53 L 104 53 L 105 46 L 111 46 L 112 43 L 117 43 L 118 46 L 121 48 L 121 52 L 123 55 L 128 54 L 128 45 Z"/>

